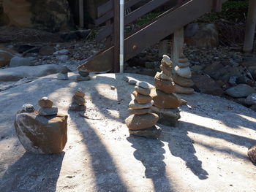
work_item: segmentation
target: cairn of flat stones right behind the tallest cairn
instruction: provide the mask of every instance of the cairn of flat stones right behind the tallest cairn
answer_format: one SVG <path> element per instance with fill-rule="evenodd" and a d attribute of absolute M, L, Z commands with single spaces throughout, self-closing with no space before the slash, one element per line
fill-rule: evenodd
<path fill-rule="evenodd" d="M 194 82 L 191 80 L 190 63 L 183 53 L 178 58 L 178 63 L 175 67 L 175 74 L 173 80 L 176 83 L 176 93 L 191 94 L 194 89 L 191 88 Z"/>

